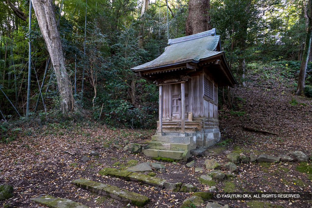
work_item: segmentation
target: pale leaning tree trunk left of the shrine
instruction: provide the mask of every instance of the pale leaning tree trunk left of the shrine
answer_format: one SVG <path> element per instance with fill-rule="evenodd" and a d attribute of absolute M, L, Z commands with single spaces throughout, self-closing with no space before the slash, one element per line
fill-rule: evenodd
<path fill-rule="evenodd" d="M 62 112 L 65 112 L 75 109 L 76 104 L 73 99 L 69 75 L 66 72 L 65 59 L 63 56 L 60 34 L 56 27 L 52 0 L 32 0 L 32 2 L 56 75 L 57 85 L 61 96 L 61 110 Z"/>

